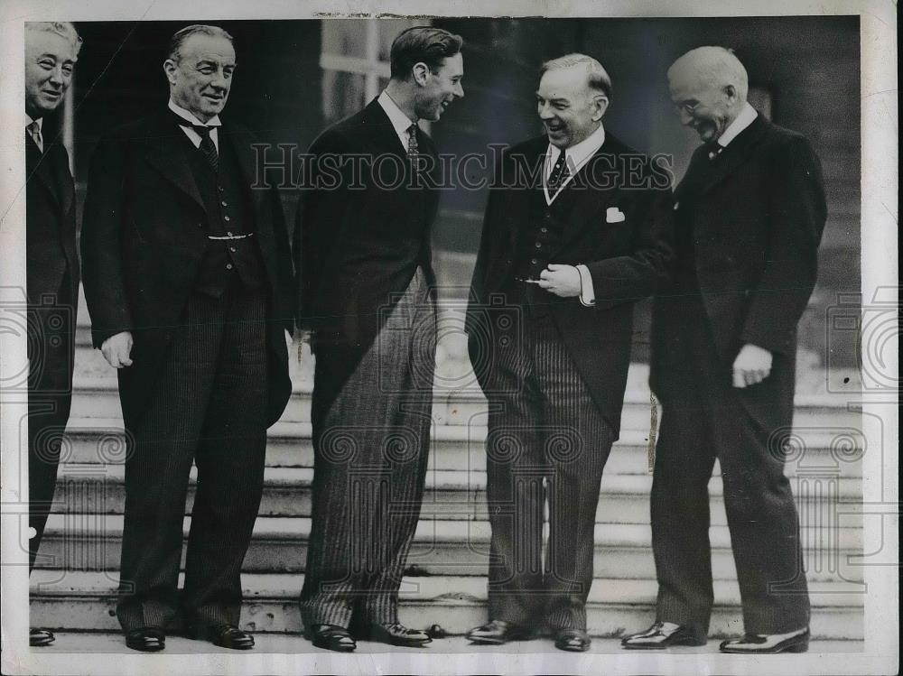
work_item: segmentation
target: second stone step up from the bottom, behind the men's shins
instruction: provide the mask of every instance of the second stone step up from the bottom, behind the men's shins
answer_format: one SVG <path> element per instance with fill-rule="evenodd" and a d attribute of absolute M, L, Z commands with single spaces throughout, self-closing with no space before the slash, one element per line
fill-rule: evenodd
<path fill-rule="evenodd" d="M 118 514 L 51 514 L 37 567 L 54 570 L 115 570 L 122 546 L 123 519 Z M 182 530 L 187 538 L 191 518 Z M 304 570 L 311 520 L 306 517 L 258 517 L 245 570 L 299 572 Z M 489 562 L 489 523 L 421 519 L 407 560 L 417 575 L 486 575 Z M 803 528 L 807 577 L 813 581 L 844 582 L 859 588 L 861 567 L 851 557 L 862 551 L 861 528 L 841 525 L 830 532 Z M 618 579 L 655 579 L 647 525 L 597 523 L 594 575 Z M 736 579 L 726 526 L 710 528 L 715 579 Z M 183 552 L 184 553 L 184 552 Z"/>

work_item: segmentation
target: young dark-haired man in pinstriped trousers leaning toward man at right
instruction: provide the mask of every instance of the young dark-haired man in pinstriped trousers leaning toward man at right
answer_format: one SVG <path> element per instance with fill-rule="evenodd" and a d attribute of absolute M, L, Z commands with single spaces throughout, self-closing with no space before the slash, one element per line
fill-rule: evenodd
<path fill-rule="evenodd" d="M 313 644 L 430 637 L 398 624 L 429 451 L 438 162 L 417 125 L 464 96 L 461 37 L 400 33 L 386 89 L 312 144 L 294 233 L 298 321 L 316 357 L 313 507 L 301 594 Z M 357 628 L 357 627 L 356 627 Z"/>

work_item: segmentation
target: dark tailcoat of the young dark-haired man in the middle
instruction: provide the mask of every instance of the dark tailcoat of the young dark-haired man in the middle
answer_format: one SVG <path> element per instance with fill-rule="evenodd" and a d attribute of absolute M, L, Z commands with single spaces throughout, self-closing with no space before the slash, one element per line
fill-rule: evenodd
<path fill-rule="evenodd" d="M 418 131 L 417 141 L 424 173 L 413 179 L 395 128 L 373 100 L 324 131 L 303 167 L 293 236 L 297 318 L 313 329 L 324 404 L 354 372 L 418 266 L 433 285 L 438 161 L 428 135 Z M 326 357 L 328 370 L 321 369 Z"/>

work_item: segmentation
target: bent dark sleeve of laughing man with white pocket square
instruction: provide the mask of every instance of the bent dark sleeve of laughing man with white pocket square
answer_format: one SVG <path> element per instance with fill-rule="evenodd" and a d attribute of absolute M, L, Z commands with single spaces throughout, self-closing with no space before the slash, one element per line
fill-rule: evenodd
<path fill-rule="evenodd" d="M 648 167 L 646 180 L 649 187 L 638 195 L 634 208 L 633 251 L 585 263 L 596 310 L 647 298 L 667 280 L 674 258 L 674 199 L 669 186 L 656 187 Z"/>

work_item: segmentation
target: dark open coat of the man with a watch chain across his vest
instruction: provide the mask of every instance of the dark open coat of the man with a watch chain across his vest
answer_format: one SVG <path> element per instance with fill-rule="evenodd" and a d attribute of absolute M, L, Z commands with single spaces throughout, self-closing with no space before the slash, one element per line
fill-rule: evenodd
<path fill-rule="evenodd" d="M 135 339 L 133 365 L 118 372 L 126 425 L 141 415 L 152 391 L 208 245 L 203 200 L 181 134 L 169 110 L 119 127 L 100 141 L 88 177 L 81 249 L 94 345 L 126 330 Z M 245 181 L 254 185 L 254 135 L 234 123 L 224 123 L 219 134 L 232 139 Z M 272 424 L 292 392 L 284 337 L 284 329 L 293 329 L 292 259 L 275 186 L 252 189 L 251 195 L 254 236 L 270 290 L 267 412 Z"/>

